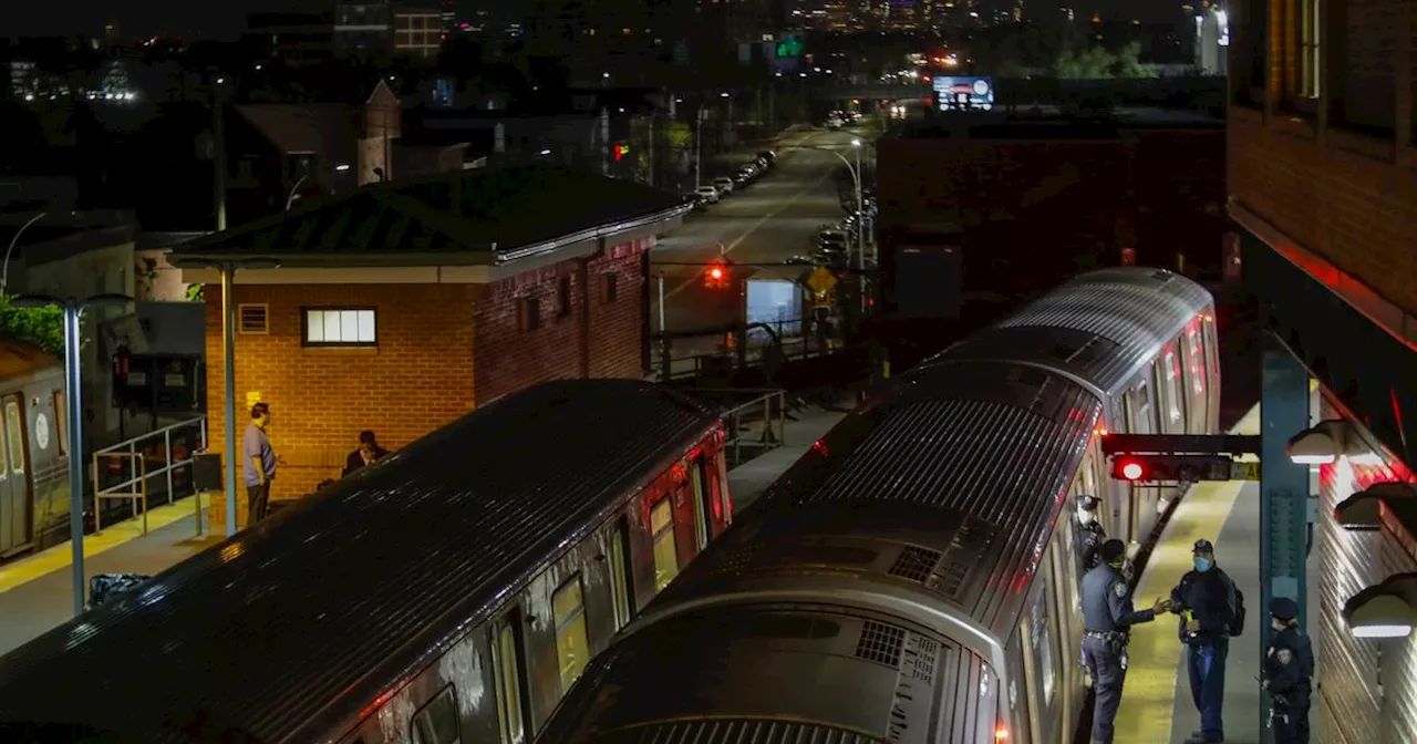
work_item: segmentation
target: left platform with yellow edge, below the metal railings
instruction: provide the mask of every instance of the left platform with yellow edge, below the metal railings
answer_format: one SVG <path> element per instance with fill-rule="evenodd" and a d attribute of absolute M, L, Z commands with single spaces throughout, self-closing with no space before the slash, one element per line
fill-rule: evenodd
<path fill-rule="evenodd" d="M 188 556 L 217 544 L 225 536 L 197 534 L 193 499 L 203 512 L 211 496 L 187 496 L 142 519 L 106 524 L 84 539 L 84 587 L 98 574 L 156 574 Z M 74 616 L 74 578 L 69 543 L 27 556 L 0 567 L 0 655 L 28 643 Z"/>

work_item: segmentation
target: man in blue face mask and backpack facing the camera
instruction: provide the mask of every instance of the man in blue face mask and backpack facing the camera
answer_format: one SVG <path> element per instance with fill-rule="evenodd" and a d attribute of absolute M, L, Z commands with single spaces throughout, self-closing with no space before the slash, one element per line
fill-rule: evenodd
<path fill-rule="evenodd" d="M 1233 621 L 1238 599 L 1230 577 L 1216 565 L 1216 547 L 1196 540 L 1195 570 L 1170 591 L 1172 607 L 1180 615 L 1180 642 L 1186 645 L 1190 700 L 1200 711 L 1200 731 L 1186 744 L 1224 741 L 1221 706 L 1226 699 L 1226 656 L 1230 655 Z"/>

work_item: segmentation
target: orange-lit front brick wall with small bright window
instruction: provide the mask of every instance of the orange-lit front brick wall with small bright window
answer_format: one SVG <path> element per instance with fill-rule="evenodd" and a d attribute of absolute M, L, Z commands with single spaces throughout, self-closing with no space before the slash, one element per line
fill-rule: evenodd
<path fill-rule="evenodd" d="M 247 394 L 271 404 L 271 444 L 285 459 L 272 499 L 337 478 L 361 429 L 408 444 L 473 407 L 472 286 L 237 285 L 238 303 L 265 303 L 269 333 L 237 334 L 237 436 Z M 378 349 L 302 346 L 303 306 L 374 306 Z M 207 411 L 213 452 L 225 452 L 221 293 L 207 292 Z M 239 486 L 239 473 L 238 473 Z M 241 489 L 238 489 L 241 490 Z M 237 495 L 245 522 L 245 493 Z M 214 499 L 213 529 L 225 524 Z"/>

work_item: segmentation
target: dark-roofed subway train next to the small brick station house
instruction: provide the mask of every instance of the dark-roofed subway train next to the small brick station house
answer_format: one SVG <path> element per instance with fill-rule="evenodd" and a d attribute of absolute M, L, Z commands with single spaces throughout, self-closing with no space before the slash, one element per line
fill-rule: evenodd
<path fill-rule="evenodd" d="M 0 741 L 524 741 L 731 520 L 718 417 L 485 405 L 0 658 Z"/>

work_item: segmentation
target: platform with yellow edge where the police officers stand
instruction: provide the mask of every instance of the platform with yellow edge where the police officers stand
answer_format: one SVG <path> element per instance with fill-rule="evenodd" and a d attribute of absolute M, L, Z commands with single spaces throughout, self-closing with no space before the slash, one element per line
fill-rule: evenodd
<path fill-rule="evenodd" d="M 1260 407 L 1246 414 L 1230 434 L 1260 434 Z M 1246 629 L 1230 639 L 1226 662 L 1224 727 L 1227 744 L 1258 744 L 1265 721 L 1261 714 L 1261 628 L 1270 622 L 1260 607 L 1260 485 L 1230 480 L 1192 486 L 1176 505 L 1151 560 L 1136 582 L 1136 607 L 1169 597 L 1192 568 L 1192 546 L 1206 539 L 1216 546 L 1216 564 L 1246 597 Z M 1309 556 L 1309 609 L 1318 616 L 1318 557 Z M 1122 706 L 1115 721 L 1115 744 L 1180 744 L 1200 728 L 1200 713 L 1190 699 L 1185 648 L 1178 639 L 1175 615 L 1156 618 L 1132 631 Z M 1305 629 L 1308 632 L 1308 629 Z M 1315 680 L 1318 682 L 1318 680 Z M 1318 709 L 1311 709 L 1316 731 Z"/>

